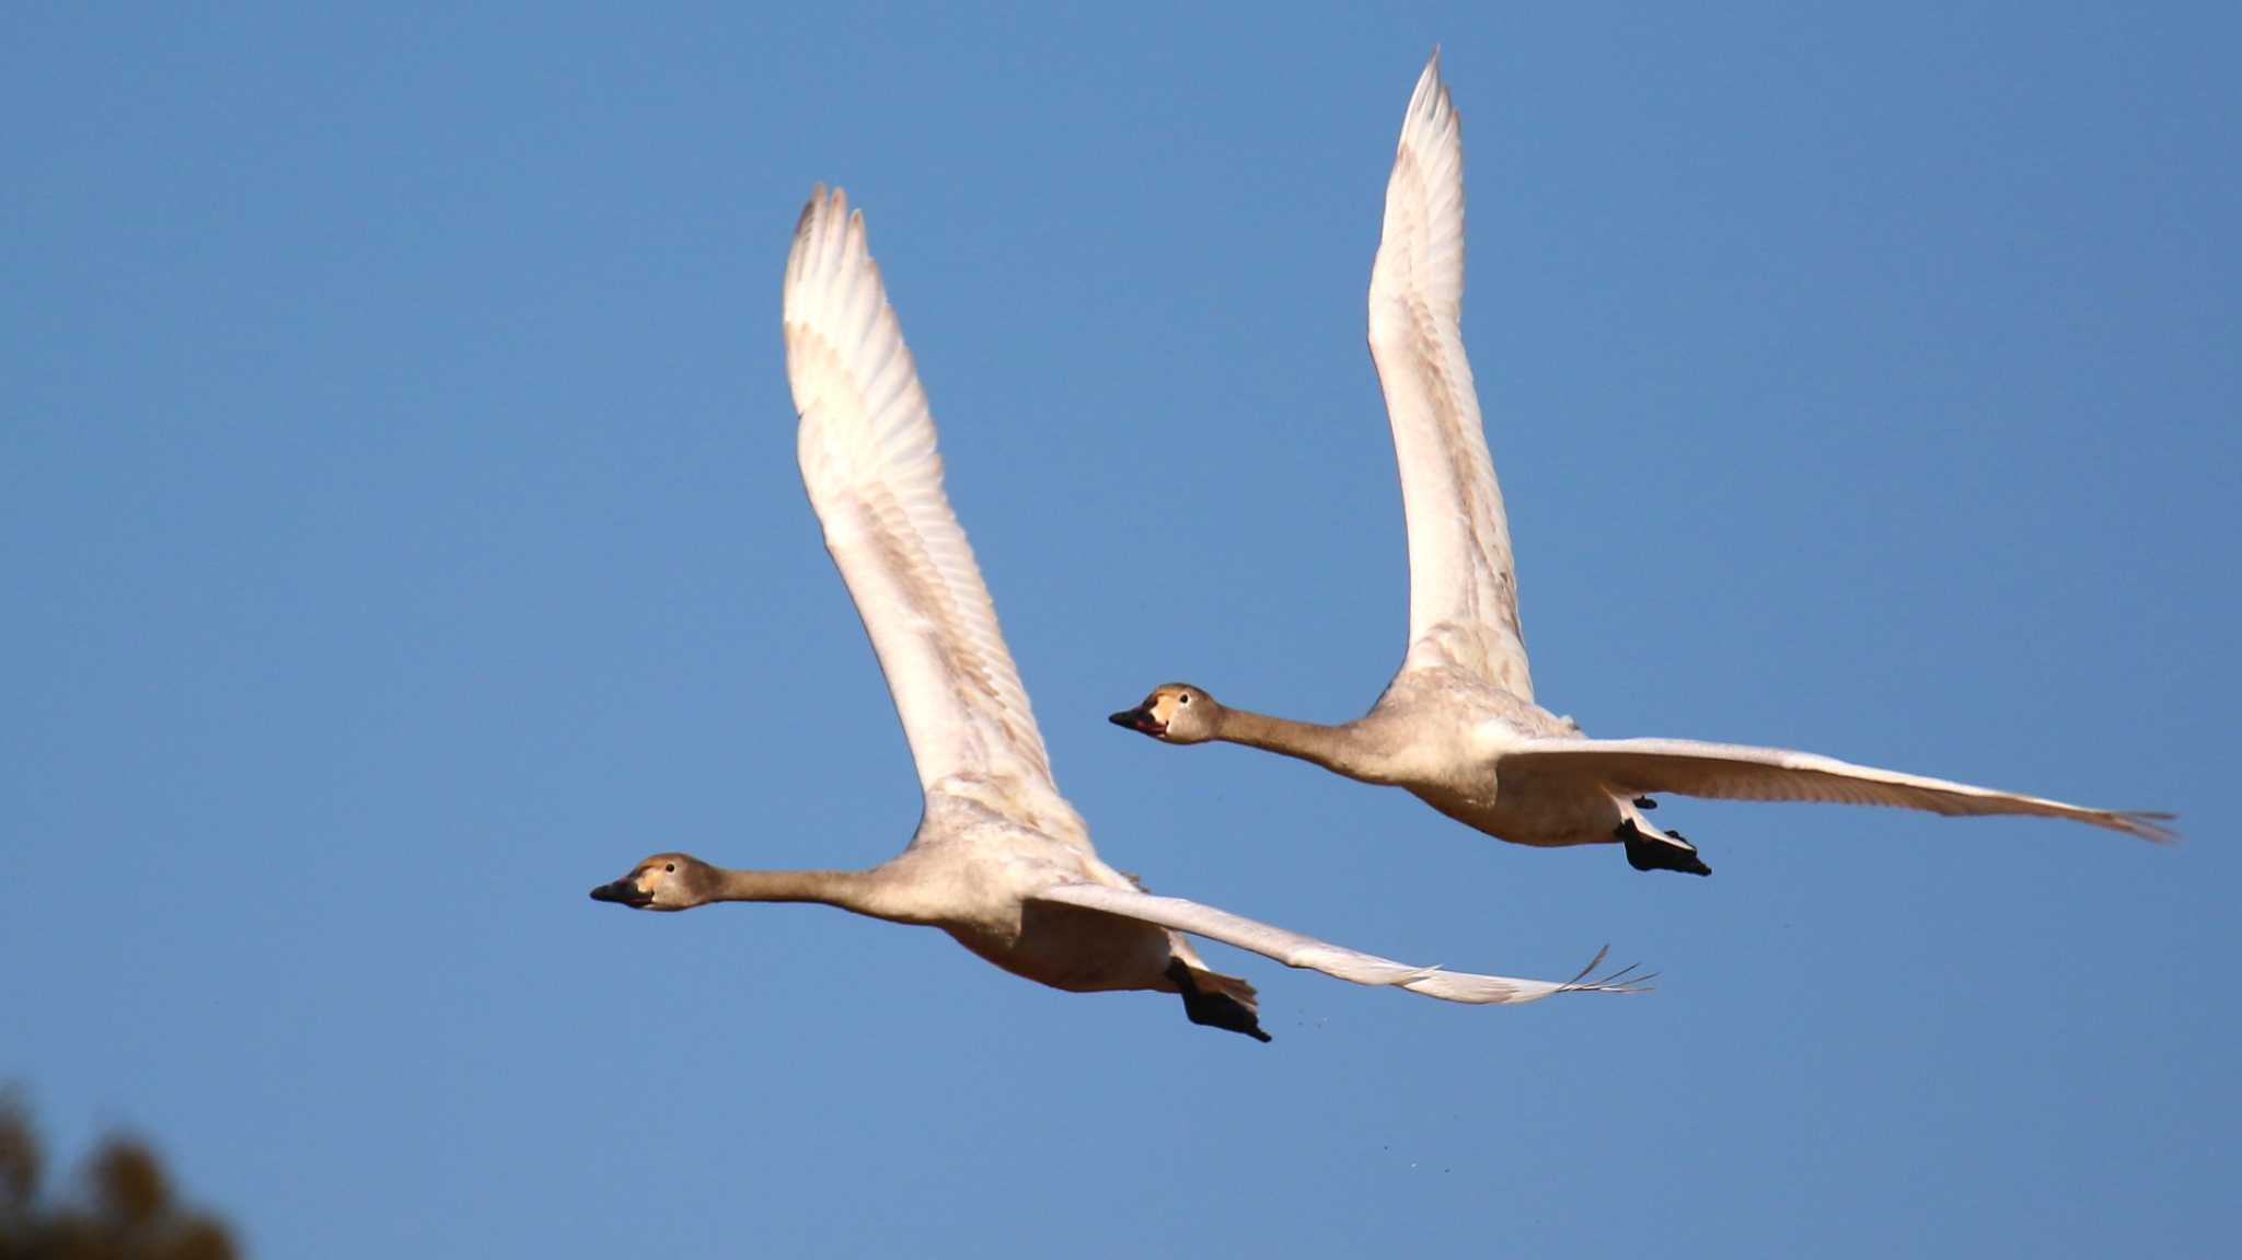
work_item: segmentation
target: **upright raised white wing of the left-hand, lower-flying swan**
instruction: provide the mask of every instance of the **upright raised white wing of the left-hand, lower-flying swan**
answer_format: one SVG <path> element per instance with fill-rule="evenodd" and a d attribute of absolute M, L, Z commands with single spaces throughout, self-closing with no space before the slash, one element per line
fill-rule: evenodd
<path fill-rule="evenodd" d="M 814 191 L 794 229 L 785 325 L 803 484 L 888 675 L 919 785 L 993 780 L 1036 823 L 1081 832 L 942 493 L 935 417 L 865 247 L 863 211 L 850 213 L 839 188 Z"/>

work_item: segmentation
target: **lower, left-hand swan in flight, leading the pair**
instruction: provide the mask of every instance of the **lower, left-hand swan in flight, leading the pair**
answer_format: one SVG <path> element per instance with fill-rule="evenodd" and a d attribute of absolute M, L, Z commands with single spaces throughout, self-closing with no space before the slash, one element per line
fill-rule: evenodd
<path fill-rule="evenodd" d="M 989 587 L 942 493 L 935 421 L 865 249 L 863 213 L 852 215 L 839 188 L 812 193 L 794 231 L 785 327 L 803 482 L 888 675 L 926 812 L 910 847 L 872 870 L 722 870 L 655 854 L 594 888 L 594 899 L 639 910 L 818 901 L 926 924 L 1013 975 L 1078 993 L 1179 993 L 1191 1022 L 1258 1040 L 1269 1034 L 1253 986 L 1208 971 L 1179 933 L 1451 1002 L 1639 989 L 1623 973 L 1587 980 L 1581 971 L 1554 984 L 1408 966 L 1152 897 L 1099 861 L 1051 782 Z"/>

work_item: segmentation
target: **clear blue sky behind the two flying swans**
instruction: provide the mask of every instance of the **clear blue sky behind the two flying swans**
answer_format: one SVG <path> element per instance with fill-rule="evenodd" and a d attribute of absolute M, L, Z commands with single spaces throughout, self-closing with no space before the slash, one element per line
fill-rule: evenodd
<path fill-rule="evenodd" d="M 258 1256 L 2213 1253 L 2231 7 L 175 13 L 0 38 L 0 1078 Z M 1670 798 L 1706 881 L 1103 722 L 1401 655 L 1363 291 L 1466 121 L 1536 682 L 1603 735 L 2184 814 Z M 1650 998 L 1211 948 L 1269 1047 L 641 854 L 868 865 L 917 787 L 794 466 L 872 224 L 1060 787 L 1157 890 Z"/>

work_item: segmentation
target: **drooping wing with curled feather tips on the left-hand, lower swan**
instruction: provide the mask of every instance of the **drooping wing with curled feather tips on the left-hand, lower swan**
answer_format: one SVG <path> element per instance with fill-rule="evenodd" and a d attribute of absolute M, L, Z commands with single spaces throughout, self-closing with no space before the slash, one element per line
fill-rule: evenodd
<path fill-rule="evenodd" d="M 1108 888 L 1103 883 L 1058 883 L 1029 897 L 1031 901 L 1063 901 L 1090 910 L 1105 910 L 1123 919 L 1159 924 L 1177 933 L 1191 933 L 1211 942 L 1273 957 L 1285 966 L 1305 966 L 1356 984 L 1397 984 L 1426 998 L 1448 1002 L 1509 1004 L 1534 1002 L 1549 993 L 1639 993 L 1639 982 L 1628 982 L 1628 971 L 1603 980 L 1587 980 L 1587 973 L 1603 962 L 1603 951 L 1587 962 L 1581 975 L 1556 984 L 1549 980 L 1511 980 L 1509 975 L 1473 975 L 1469 971 L 1442 971 L 1437 966 L 1410 966 L 1390 957 L 1361 953 L 1285 928 L 1184 901 L 1182 897 L 1152 897 L 1130 888 Z"/>

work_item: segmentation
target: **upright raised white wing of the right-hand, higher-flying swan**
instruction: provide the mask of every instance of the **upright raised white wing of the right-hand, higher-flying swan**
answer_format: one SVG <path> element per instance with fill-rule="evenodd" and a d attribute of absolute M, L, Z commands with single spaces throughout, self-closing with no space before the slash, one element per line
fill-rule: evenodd
<path fill-rule="evenodd" d="M 1464 135 L 1435 52 L 1401 123 L 1370 269 L 1370 359 L 1408 513 L 1408 666 L 1455 664 L 1534 700 L 1511 527 L 1464 359 L 1462 312 Z"/>

